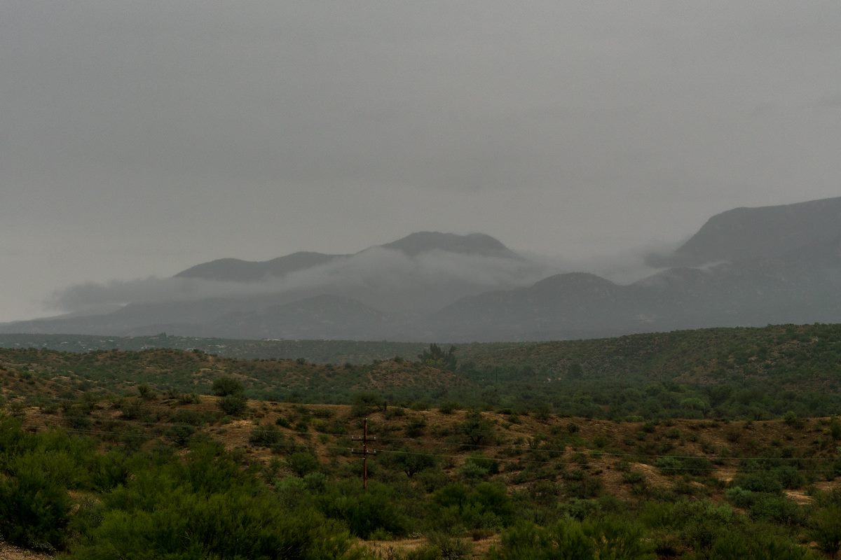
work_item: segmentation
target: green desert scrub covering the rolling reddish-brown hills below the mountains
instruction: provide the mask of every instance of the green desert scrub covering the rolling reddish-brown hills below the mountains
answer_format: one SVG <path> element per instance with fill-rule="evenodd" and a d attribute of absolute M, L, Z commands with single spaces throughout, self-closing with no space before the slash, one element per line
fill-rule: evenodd
<path fill-rule="evenodd" d="M 838 332 L 362 365 L 0 350 L 0 536 L 68 559 L 837 557 Z"/>

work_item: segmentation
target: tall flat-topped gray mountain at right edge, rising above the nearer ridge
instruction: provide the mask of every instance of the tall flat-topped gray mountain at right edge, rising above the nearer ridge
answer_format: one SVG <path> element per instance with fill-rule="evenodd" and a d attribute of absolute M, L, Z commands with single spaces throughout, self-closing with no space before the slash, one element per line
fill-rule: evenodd
<path fill-rule="evenodd" d="M 841 236 L 841 197 L 785 206 L 734 208 L 711 217 L 659 266 L 700 266 L 791 254 Z"/>

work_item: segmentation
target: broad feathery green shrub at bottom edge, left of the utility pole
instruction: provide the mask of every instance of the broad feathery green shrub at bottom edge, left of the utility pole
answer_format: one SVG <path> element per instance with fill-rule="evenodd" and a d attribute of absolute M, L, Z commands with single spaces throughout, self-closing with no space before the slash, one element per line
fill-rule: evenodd
<path fill-rule="evenodd" d="M 68 558 L 274 558 L 280 551 L 307 560 L 357 556 L 346 531 L 315 510 L 288 510 L 269 495 L 235 485 L 200 495 L 159 482 L 153 508 L 108 511 L 90 541 Z"/>

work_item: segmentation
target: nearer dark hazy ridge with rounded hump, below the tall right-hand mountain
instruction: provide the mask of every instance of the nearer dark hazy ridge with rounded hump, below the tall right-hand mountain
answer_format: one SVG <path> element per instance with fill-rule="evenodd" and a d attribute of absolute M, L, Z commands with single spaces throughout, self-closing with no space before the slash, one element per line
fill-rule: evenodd
<path fill-rule="evenodd" d="M 675 267 L 631 285 L 556 275 L 525 288 L 465 297 L 426 332 L 461 341 L 599 338 L 701 327 L 841 322 L 841 243 L 705 269 Z"/>

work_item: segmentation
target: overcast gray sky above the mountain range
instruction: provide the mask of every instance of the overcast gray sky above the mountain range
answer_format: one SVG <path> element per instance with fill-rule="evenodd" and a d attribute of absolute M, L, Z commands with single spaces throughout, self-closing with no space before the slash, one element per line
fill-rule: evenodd
<path fill-rule="evenodd" d="M 224 256 L 615 254 L 839 196 L 838 29 L 838 0 L 0 0 L 0 321 Z"/>

